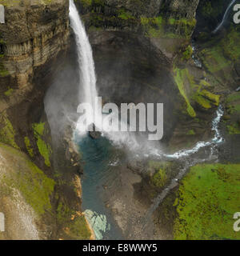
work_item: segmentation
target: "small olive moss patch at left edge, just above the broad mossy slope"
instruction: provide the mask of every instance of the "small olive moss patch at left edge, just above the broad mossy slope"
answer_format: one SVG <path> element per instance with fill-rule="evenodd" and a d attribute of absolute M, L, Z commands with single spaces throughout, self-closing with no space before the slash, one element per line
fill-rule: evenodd
<path fill-rule="evenodd" d="M 0 142 L 6 143 L 18 149 L 15 142 L 15 131 L 6 114 L 0 115 Z"/>

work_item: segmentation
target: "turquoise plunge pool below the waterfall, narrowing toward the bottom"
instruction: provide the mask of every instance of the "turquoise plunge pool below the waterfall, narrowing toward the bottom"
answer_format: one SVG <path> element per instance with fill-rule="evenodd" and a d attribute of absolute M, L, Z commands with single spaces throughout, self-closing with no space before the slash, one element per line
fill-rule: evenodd
<path fill-rule="evenodd" d="M 107 190 L 118 186 L 118 168 L 120 162 L 118 150 L 106 138 L 92 139 L 90 136 L 76 138 L 82 161 L 82 210 L 86 212 L 98 239 L 121 239 L 122 232 L 106 207 Z"/>

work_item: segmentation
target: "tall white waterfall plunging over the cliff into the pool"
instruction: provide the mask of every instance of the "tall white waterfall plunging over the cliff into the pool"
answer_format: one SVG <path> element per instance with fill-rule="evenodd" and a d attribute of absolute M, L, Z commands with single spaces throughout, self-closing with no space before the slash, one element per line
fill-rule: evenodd
<path fill-rule="evenodd" d="M 70 26 L 74 30 L 78 53 L 79 87 L 83 87 L 83 102 L 90 103 L 94 109 L 95 98 L 98 97 L 96 89 L 96 74 L 94 66 L 93 51 L 86 34 L 85 27 L 74 5 L 70 0 Z M 80 102 L 80 94 L 79 94 Z"/>

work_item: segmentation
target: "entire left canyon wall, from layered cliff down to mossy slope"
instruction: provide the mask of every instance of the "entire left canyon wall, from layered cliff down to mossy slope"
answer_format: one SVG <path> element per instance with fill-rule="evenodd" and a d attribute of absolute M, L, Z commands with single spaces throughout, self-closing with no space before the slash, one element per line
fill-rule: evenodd
<path fill-rule="evenodd" d="M 90 238 L 71 134 L 57 154 L 43 103 L 70 50 L 69 1 L 0 3 L 0 239 Z"/>

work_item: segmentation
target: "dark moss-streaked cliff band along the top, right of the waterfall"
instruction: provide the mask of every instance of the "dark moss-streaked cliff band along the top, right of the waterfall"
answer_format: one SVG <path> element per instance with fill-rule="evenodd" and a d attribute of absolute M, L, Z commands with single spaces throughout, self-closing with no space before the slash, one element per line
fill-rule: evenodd
<path fill-rule="evenodd" d="M 134 30 L 150 38 L 190 38 L 199 0 L 77 0 L 89 26 Z"/>

